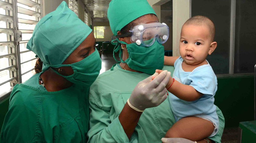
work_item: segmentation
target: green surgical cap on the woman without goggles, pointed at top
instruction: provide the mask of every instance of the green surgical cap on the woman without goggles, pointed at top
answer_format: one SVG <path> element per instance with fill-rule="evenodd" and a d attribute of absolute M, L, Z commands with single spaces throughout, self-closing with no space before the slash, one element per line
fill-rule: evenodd
<path fill-rule="evenodd" d="M 43 63 L 59 65 L 91 31 L 63 1 L 55 11 L 37 23 L 27 49 L 33 51 Z"/>

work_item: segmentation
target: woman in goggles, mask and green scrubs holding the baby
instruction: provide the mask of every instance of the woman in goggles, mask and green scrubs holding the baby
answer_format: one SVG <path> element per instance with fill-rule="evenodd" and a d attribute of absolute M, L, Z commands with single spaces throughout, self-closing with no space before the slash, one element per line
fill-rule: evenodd
<path fill-rule="evenodd" d="M 108 8 L 108 20 L 115 36 L 129 34 L 133 26 L 158 22 L 146 0 L 112 0 Z M 137 83 L 151 77 L 158 68 L 170 72 L 174 70 L 173 66 L 163 66 L 164 48 L 161 44 L 156 41 L 149 47 L 140 46 L 140 42 L 136 44 L 131 42 L 129 36 L 119 37 L 114 52 L 120 49 L 121 62 L 99 75 L 90 88 L 88 143 L 162 143 L 161 138 L 175 123 L 168 99 L 156 107 L 141 109 L 136 106 L 140 110 L 133 107 L 137 105 L 134 104 L 133 96 Z M 218 107 L 216 112 L 219 116 L 219 131 L 209 138 L 209 142 L 220 143 L 225 121 Z"/>

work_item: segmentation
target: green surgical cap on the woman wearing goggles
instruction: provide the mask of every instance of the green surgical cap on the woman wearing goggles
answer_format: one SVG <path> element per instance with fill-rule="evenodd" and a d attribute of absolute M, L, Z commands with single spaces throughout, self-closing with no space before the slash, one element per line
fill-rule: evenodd
<path fill-rule="evenodd" d="M 147 0 L 112 0 L 108 8 L 110 28 L 117 35 L 124 26 L 146 14 L 155 14 Z"/>

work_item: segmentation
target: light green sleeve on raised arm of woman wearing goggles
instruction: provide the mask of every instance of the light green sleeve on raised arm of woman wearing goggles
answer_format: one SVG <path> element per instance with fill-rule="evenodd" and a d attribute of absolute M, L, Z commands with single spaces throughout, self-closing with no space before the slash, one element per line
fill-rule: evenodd
<path fill-rule="evenodd" d="M 90 92 L 91 94 L 91 92 Z M 92 97 L 92 95 L 90 95 Z M 90 130 L 87 143 L 129 143 L 122 125 L 116 117 L 112 122 L 109 111 L 102 110 L 93 98 L 90 98 Z"/>

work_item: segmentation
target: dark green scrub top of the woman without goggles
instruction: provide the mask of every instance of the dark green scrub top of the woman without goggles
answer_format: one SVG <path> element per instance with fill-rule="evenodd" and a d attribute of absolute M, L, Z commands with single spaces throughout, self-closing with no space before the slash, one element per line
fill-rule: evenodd
<path fill-rule="evenodd" d="M 40 73 L 16 85 L 10 96 L 1 143 L 85 143 L 89 129 L 89 88 L 73 85 L 48 92 Z"/>

